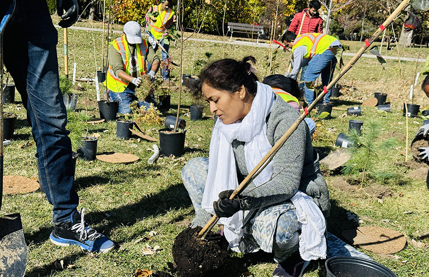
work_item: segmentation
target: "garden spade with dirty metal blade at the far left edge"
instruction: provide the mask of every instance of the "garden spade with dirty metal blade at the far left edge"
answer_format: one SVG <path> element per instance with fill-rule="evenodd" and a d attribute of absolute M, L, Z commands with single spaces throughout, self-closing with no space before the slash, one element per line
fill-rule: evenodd
<path fill-rule="evenodd" d="M 15 9 L 15 0 L 0 4 L 0 99 L 3 98 L 3 32 Z M 0 101 L 0 209 L 3 198 L 3 104 Z M 19 214 L 0 218 L 0 276 L 24 276 L 27 246 Z"/>

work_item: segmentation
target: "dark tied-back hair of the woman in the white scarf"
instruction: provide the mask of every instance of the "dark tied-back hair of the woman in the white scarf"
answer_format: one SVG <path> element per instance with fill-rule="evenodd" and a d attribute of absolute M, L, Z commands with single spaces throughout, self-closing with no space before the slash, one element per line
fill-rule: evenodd
<path fill-rule="evenodd" d="M 238 91 L 244 85 L 251 95 L 256 95 L 258 78 L 250 71 L 251 64 L 255 63 L 256 59 L 252 56 L 246 56 L 241 61 L 230 58 L 213 61 L 202 70 L 194 96 L 201 97 L 201 87 L 204 83 L 229 93 Z"/>

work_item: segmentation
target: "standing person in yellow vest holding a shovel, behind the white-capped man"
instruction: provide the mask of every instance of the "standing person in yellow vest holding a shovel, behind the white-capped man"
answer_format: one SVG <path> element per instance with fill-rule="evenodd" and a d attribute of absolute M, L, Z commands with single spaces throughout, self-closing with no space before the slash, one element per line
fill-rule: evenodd
<path fill-rule="evenodd" d="M 154 5 L 149 8 L 146 14 L 146 32 L 149 34 L 149 42 L 152 44 L 153 49 L 158 49 L 158 43 L 161 48 L 161 58 L 165 62 L 169 57 L 168 51 L 170 47 L 170 39 L 168 36 L 168 29 L 176 20 L 174 11 L 169 7 L 170 0 L 160 0 L 159 5 Z M 164 48 L 164 49 L 163 49 Z M 164 51 L 165 50 L 165 51 Z M 169 81 L 170 70 L 169 63 L 162 64 L 161 75 L 163 81 Z"/>

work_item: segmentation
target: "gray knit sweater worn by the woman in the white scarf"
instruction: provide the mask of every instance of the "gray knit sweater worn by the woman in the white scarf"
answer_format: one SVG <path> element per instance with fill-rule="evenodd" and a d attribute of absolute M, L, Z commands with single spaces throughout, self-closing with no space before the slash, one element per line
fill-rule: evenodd
<path fill-rule="evenodd" d="M 299 113 L 281 97 L 277 97 L 267 120 L 266 136 L 272 146 L 298 118 Z M 244 142 L 232 143 L 237 176 L 241 182 L 248 174 L 244 157 Z M 319 170 L 318 154 L 311 144 L 307 124 L 303 121 L 291 134 L 272 160 L 271 181 L 255 187 L 253 183 L 242 193 L 242 210 L 250 210 L 244 224 L 262 207 L 282 203 L 295 195 L 296 191 L 306 193 L 320 207 L 325 217 L 329 216 L 328 186 Z M 251 190 L 251 191 L 250 191 Z"/>

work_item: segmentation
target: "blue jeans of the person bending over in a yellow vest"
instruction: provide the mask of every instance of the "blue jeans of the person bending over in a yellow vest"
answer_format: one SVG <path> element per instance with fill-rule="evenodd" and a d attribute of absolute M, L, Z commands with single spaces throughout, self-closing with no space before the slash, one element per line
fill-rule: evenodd
<path fill-rule="evenodd" d="M 325 50 L 321 54 L 317 54 L 311 58 L 308 62 L 307 70 L 304 73 L 305 82 L 314 82 L 317 77 L 321 75 L 322 85 L 328 86 L 334 75 L 335 65 L 337 64 L 337 58 L 331 50 Z M 314 92 L 307 87 L 304 87 L 304 96 L 308 105 L 314 101 Z M 325 102 L 330 102 L 331 90 L 325 96 Z"/>

